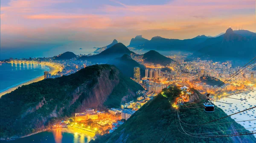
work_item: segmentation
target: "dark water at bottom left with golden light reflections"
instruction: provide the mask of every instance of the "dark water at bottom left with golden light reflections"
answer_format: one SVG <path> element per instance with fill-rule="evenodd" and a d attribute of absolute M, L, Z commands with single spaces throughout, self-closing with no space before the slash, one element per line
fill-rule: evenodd
<path fill-rule="evenodd" d="M 89 136 L 61 132 L 53 130 L 41 132 L 29 137 L 20 138 L 11 141 L 1 141 L 1 143 L 89 143 L 92 138 Z"/>

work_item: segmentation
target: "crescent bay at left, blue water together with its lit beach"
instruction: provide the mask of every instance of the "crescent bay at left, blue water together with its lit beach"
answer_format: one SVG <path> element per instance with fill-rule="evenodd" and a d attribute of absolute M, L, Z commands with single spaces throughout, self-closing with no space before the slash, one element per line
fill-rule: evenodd
<path fill-rule="evenodd" d="M 51 64 L 26 62 L 3 63 L 0 66 L 0 96 L 10 93 L 22 85 L 43 80 L 44 71 L 56 73 L 60 70 Z"/>

